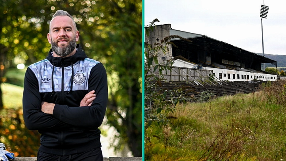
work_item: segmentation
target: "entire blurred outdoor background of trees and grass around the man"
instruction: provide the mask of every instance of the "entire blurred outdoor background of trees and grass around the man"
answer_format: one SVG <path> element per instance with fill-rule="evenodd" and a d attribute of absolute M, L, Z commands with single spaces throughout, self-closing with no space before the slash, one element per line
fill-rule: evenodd
<path fill-rule="evenodd" d="M 23 81 L 27 66 L 51 48 L 47 33 L 57 10 L 73 16 L 78 43 L 106 68 L 103 156 L 142 156 L 141 0 L 0 0 L 0 142 L 15 156 L 37 154 L 40 134 L 23 121 Z"/>

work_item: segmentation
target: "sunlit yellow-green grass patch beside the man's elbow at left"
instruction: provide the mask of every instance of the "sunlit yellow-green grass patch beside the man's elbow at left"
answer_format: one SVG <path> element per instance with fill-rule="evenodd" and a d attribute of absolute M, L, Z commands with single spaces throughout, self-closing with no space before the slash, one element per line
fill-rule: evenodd
<path fill-rule="evenodd" d="M 23 87 L 8 83 L 1 83 L 4 108 L 22 107 Z"/>

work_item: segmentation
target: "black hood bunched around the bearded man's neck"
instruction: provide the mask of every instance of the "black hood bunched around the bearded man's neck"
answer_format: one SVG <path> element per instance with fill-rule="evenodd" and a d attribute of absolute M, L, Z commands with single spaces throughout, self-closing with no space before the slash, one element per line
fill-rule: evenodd
<path fill-rule="evenodd" d="M 61 58 L 61 57 L 53 57 L 53 50 L 50 49 L 47 59 L 51 62 L 51 64 L 53 64 L 54 66 L 57 67 L 61 67 L 62 65 L 64 67 L 66 66 L 70 66 L 71 64 L 74 64 L 75 62 L 77 62 L 78 60 L 83 60 L 85 58 L 87 58 L 87 55 L 85 54 L 85 52 L 83 51 L 83 49 L 81 48 L 80 44 L 76 45 L 76 53 L 72 56 L 68 56 L 65 58 Z"/>

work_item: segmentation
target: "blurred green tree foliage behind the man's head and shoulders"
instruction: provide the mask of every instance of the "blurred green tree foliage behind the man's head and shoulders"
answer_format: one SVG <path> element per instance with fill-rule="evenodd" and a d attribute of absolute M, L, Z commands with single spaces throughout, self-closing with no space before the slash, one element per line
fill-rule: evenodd
<path fill-rule="evenodd" d="M 11 81 L 9 68 L 46 57 L 49 22 L 59 9 L 73 16 L 87 55 L 106 67 L 106 116 L 120 138 L 113 146 L 128 144 L 133 156 L 142 156 L 141 0 L 0 0 L 0 86 Z M 0 110 L 2 95 L 0 90 Z"/>

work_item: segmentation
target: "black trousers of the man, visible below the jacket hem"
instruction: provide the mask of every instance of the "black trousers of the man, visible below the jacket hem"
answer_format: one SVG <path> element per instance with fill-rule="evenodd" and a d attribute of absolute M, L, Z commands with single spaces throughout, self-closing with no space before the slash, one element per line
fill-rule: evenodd
<path fill-rule="evenodd" d="M 58 156 L 38 151 L 37 161 L 103 161 L 101 148 L 69 156 Z"/>

